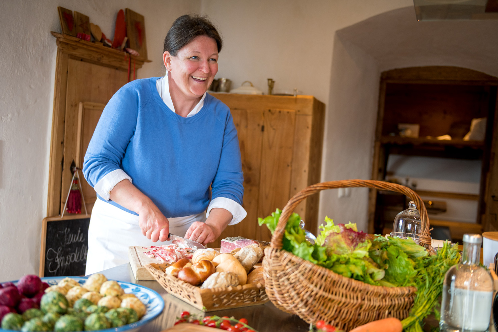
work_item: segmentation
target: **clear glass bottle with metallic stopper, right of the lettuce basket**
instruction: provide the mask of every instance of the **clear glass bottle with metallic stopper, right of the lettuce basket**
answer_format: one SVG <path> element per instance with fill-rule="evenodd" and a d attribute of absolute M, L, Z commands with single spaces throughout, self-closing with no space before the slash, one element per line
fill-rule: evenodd
<path fill-rule="evenodd" d="M 452 266 L 444 277 L 441 301 L 441 332 L 489 331 L 493 300 L 493 278 L 479 265 L 479 234 L 464 234 L 462 262 Z"/>

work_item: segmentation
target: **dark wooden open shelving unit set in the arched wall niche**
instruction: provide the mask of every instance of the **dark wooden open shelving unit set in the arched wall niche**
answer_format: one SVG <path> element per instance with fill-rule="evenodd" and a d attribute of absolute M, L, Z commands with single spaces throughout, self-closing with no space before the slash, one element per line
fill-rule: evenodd
<path fill-rule="evenodd" d="M 438 221 L 431 225 L 449 227 L 454 239 L 464 232 L 498 229 L 497 151 L 498 78 L 458 67 L 415 67 L 383 72 L 380 81 L 372 179 L 385 180 L 391 154 L 476 160 L 482 162 L 479 194 L 416 190 L 424 196 L 478 201 L 476 223 Z M 487 118 L 483 141 L 466 141 L 473 118 Z M 420 125 L 419 137 L 400 137 L 398 123 Z M 451 140 L 438 140 L 449 134 Z M 395 214 L 406 208 L 404 198 L 371 190 L 369 232 L 382 232 L 392 225 Z M 493 210 L 495 209 L 495 210 Z M 390 211 L 392 210 L 392 211 Z M 495 212 L 494 212 L 495 211 Z M 390 223 L 390 224 L 389 224 Z M 385 227 L 385 228 L 384 228 Z"/>

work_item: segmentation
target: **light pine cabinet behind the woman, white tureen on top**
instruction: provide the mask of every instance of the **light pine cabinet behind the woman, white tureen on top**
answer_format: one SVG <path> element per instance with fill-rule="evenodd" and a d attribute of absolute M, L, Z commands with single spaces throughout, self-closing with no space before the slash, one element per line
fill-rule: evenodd
<path fill-rule="evenodd" d="M 269 241 L 257 224 L 308 185 L 320 182 L 325 105 L 312 96 L 213 94 L 225 103 L 237 128 L 244 172 L 243 207 L 248 215 L 220 238 L 245 236 Z M 317 229 L 318 195 L 295 210 L 306 228 Z M 219 241 L 212 243 L 219 247 Z"/>

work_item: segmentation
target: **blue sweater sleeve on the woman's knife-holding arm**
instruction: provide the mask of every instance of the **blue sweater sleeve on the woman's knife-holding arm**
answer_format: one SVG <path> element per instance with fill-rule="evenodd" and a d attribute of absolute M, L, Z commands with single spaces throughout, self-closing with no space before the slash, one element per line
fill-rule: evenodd
<path fill-rule="evenodd" d="M 133 136 L 139 95 L 136 84 L 126 84 L 109 101 L 97 123 L 83 163 L 83 174 L 95 187 L 108 173 L 120 169 L 126 147 Z"/>

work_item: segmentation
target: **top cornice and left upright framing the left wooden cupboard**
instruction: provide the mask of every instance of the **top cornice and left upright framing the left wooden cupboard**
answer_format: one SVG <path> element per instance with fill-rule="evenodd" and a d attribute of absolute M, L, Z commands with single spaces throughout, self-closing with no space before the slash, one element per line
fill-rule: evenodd
<path fill-rule="evenodd" d="M 144 62 L 150 62 L 150 60 L 143 60 L 123 51 L 105 47 L 99 43 L 88 42 L 53 31 L 51 33 L 56 37 L 57 59 L 48 166 L 47 217 L 58 216 L 60 214 L 69 59 L 90 62 L 122 71 L 128 71 L 130 65 L 133 65 L 135 69 L 140 69 Z"/>

